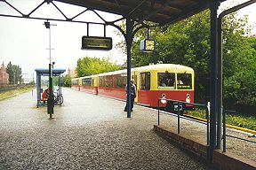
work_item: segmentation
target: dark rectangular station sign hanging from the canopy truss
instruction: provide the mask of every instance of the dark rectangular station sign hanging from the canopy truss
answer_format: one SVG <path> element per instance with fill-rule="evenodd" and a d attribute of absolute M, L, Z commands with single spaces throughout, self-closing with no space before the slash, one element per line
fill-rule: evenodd
<path fill-rule="evenodd" d="M 82 50 L 111 50 L 112 38 L 102 36 L 83 36 Z"/>

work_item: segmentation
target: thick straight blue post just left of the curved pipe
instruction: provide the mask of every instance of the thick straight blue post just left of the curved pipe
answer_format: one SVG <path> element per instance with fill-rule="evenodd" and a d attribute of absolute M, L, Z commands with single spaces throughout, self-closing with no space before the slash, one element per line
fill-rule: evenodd
<path fill-rule="evenodd" d="M 216 111 L 217 111 L 217 10 L 220 2 L 211 3 L 211 108 L 210 108 L 210 147 L 209 159 L 212 161 L 212 153 L 216 147 Z"/>

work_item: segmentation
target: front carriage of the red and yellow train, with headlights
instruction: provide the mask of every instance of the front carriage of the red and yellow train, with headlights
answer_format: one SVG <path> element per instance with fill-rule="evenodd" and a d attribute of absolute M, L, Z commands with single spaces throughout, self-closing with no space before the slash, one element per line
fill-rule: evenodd
<path fill-rule="evenodd" d="M 157 99 L 194 102 L 194 70 L 188 66 L 161 64 L 136 68 L 137 103 L 157 107 Z M 160 104 L 160 107 L 166 107 Z M 186 105 L 191 106 L 191 105 Z"/>

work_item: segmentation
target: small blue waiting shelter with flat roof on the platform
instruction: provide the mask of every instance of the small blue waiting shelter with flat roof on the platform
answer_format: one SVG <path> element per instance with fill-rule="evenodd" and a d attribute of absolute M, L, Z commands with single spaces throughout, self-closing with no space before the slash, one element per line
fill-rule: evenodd
<path fill-rule="evenodd" d="M 40 105 L 47 105 L 47 100 L 42 98 L 42 93 L 43 93 L 43 88 L 41 86 L 41 81 L 42 81 L 42 76 L 49 76 L 49 69 L 47 68 L 36 68 L 36 100 L 37 104 L 36 106 L 39 107 Z M 60 68 L 53 68 L 52 69 L 52 76 L 56 77 L 58 76 L 58 97 L 62 97 L 62 92 L 61 92 L 61 73 L 66 72 L 65 69 L 60 69 Z M 61 105 L 60 103 L 54 103 L 54 105 Z"/>

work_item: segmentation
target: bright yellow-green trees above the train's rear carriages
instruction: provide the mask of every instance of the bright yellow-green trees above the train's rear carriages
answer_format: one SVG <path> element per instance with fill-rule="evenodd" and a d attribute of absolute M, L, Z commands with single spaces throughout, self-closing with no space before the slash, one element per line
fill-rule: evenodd
<path fill-rule="evenodd" d="M 76 74 L 78 77 L 106 73 L 120 69 L 116 63 L 111 63 L 109 58 L 79 58 L 76 64 Z"/>

